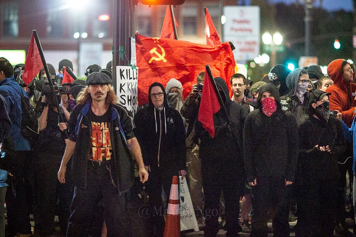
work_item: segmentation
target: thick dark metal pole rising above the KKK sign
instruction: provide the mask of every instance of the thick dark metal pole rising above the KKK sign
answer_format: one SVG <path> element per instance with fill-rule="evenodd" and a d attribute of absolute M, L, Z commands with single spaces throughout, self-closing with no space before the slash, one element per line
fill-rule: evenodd
<path fill-rule="evenodd" d="M 131 59 L 131 36 L 133 32 L 133 18 L 135 1 L 114 1 L 114 31 L 112 34 L 112 86 L 116 90 L 116 66 L 127 66 Z"/>

